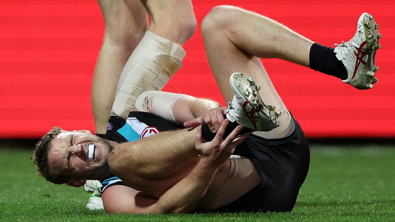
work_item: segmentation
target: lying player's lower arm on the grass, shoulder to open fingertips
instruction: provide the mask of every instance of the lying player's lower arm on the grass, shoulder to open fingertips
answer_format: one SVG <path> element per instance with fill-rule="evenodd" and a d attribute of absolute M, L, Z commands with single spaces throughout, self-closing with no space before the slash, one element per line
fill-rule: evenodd
<path fill-rule="evenodd" d="M 195 211 L 205 195 L 218 167 L 229 159 L 235 147 L 249 135 L 247 133 L 238 137 L 240 131 L 243 129 L 242 126 L 238 126 L 226 139 L 222 139 L 228 122 L 228 120 L 222 122 L 217 135 L 211 142 L 205 143 L 201 135 L 201 129 L 198 129 L 195 143 L 196 149 L 199 149 L 203 153 L 200 161 L 188 176 L 167 190 L 157 201 L 143 194 L 141 196 L 131 194 L 125 198 L 120 192 L 114 192 L 114 194 L 119 196 L 119 198 L 114 198 L 109 196 L 111 194 L 107 193 L 109 195 L 103 195 L 106 212 L 150 214 L 191 213 Z M 107 201 L 105 199 L 107 197 L 112 198 L 112 202 Z M 123 202 L 120 200 L 123 200 Z M 137 203 L 139 204 L 137 205 Z M 113 205 L 119 205 L 119 208 L 123 209 L 119 210 L 118 207 L 114 208 Z"/>

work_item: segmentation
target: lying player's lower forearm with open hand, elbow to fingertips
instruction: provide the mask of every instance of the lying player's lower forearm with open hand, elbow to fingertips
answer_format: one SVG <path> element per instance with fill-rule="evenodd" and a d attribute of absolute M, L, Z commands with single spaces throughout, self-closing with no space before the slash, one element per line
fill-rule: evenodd
<path fill-rule="evenodd" d="M 201 129 L 198 128 L 195 144 L 196 149 L 203 153 L 198 165 L 188 176 L 159 198 L 158 202 L 152 206 L 153 213 L 191 213 L 196 210 L 218 167 L 229 160 L 235 147 L 250 135 L 246 133 L 239 137 L 243 126 L 238 126 L 226 139 L 222 139 L 228 123 L 229 120 L 222 122 L 211 142 L 204 142 Z"/>

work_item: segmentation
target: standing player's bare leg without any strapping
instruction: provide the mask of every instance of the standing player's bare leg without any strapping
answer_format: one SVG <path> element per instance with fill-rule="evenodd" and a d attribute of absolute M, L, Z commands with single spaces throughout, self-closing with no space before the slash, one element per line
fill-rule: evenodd
<path fill-rule="evenodd" d="M 148 28 L 147 11 L 139 0 L 98 0 L 105 34 L 91 93 L 97 134 L 105 134 L 119 75 Z"/>

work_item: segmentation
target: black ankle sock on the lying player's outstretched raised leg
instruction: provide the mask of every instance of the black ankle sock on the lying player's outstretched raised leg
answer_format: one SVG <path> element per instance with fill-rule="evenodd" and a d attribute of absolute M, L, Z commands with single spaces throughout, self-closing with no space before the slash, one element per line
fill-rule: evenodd
<path fill-rule="evenodd" d="M 347 79 L 347 70 L 336 58 L 334 48 L 314 43 L 310 48 L 310 68 L 339 79 Z"/>

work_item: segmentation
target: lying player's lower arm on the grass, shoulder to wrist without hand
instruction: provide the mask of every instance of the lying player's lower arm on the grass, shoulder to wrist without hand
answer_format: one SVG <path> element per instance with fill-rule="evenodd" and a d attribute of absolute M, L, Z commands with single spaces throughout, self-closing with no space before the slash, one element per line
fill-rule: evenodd
<path fill-rule="evenodd" d="M 111 186 L 102 195 L 105 212 L 191 213 L 198 207 L 217 169 L 218 166 L 213 166 L 207 158 L 202 158 L 188 176 L 167 190 L 159 199 L 128 186 Z"/>

